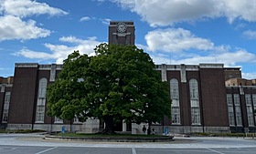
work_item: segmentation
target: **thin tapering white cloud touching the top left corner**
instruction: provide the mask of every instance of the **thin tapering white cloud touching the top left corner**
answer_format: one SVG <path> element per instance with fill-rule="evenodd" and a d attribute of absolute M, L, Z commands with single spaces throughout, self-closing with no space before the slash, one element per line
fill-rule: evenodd
<path fill-rule="evenodd" d="M 46 3 L 38 3 L 30 0 L 2 0 L 0 3 L 0 11 L 5 15 L 16 15 L 26 17 L 30 15 L 68 15 L 68 12 L 59 8 L 51 7 Z"/>

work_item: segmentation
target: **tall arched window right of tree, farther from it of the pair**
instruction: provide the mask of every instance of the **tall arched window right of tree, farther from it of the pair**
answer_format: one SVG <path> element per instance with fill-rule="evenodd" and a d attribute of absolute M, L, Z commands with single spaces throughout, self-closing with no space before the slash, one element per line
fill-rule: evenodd
<path fill-rule="evenodd" d="M 197 79 L 189 80 L 192 125 L 200 125 Z"/>

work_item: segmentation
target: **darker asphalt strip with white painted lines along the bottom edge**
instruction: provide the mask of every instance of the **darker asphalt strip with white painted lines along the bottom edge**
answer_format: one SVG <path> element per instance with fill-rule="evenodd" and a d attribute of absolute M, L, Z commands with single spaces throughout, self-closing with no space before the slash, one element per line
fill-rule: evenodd
<path fill-rule="evenodd" d="M 1 154 L 255 154 L 256 148 L 227 149 L 141 149 L 141 148 L 85 148 L 0 146 Z"/>

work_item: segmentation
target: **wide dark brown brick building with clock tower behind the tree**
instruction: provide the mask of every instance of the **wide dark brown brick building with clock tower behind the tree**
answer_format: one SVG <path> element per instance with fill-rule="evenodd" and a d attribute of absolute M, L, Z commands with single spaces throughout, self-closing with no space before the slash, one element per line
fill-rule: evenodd
<path fill-rule="evenodd" d="M 133 21 L 112 21 L 109 43 L 134 45 L 134 30 Z M 69 121 L 46 116 L 46 87 L 55 82 L 61 69 L 62 65 L 56 64 L 17 63 L 14 77 L 0 77 L 0 126 L 48 131 L 60 131 L 65 126 L 68 131 L 99 131 L 103 125 L 98 119 L 80 123 L 77 118 Z M 255 79 L 243 79 L 240 67 L 163 64 L 155 69 L 169 84 L 173 100 L 172 118 L 153 124 L 156 132 L 164 132 L 165 128 L 176 133 L 256 131 Z M 143 125 L 117 123 L 115 128 L 137 134 L 142 133 Z"/>

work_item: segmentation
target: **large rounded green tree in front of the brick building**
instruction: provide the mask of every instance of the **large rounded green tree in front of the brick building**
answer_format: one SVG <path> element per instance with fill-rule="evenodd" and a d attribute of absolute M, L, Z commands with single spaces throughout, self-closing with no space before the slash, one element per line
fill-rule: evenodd
<path fill-rule="evenodd" d="M 168 84 L 143 49 L 101 44 L 94 50 L 96 56 L 75 51 L 64 60 L 47 89 L 48 116 L 100 118 L 103 134 L 114 133 L 114 121 L 151 124 L 170 117 Z"/>

